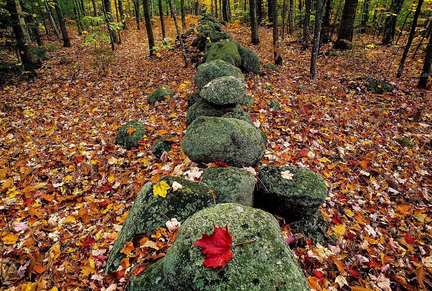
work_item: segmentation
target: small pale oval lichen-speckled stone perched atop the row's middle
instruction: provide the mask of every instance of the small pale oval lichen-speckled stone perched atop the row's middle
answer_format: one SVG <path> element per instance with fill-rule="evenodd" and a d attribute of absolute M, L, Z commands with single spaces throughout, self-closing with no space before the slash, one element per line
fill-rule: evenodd
<path fill-rule="evenodd" d="M 233 76 L 219 77 L 208 82 L 200 96 L 216 105 L 238 104 L 246 96 L 246 84 L 243 79 Z"/>

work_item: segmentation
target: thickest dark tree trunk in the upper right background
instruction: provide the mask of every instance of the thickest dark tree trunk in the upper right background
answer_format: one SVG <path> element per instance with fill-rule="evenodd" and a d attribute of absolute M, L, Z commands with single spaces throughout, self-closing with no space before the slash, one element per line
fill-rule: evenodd
<path fill-rule="evenodd" d="M 345 0 L 340 22 L 339 34 L 333 48 L 337 50 L 347 50 L 353 45 L 354 20 L 356 19 L 356 9 L 359 0 Z"/>

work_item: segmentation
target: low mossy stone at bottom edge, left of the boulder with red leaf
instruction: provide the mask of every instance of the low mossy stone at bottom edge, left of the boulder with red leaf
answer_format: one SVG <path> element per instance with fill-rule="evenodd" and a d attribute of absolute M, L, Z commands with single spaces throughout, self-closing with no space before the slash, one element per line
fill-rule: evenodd
<path fill-rule="evenodd" d="M 158 259 L 151 263 L 143 272 L 137 276 L 133 275 L 133 270 L 129 277 L 129 291 L 168 291 L 169 287 L 166 284 L 165 276 L 163 275 L 164 258 Z M 136 266 L 136 268 L 139 265 Z M 134 268 L 135 269 L 135 268 Z"/>

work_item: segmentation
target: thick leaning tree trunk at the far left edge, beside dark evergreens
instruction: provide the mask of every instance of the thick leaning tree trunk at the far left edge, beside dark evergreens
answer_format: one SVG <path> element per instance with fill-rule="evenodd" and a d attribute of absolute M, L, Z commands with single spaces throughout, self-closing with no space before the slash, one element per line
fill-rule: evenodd
<path fill-rule="evenodd" d="M 16 47 L 21 58 L 22 65 L 26 70 L 34 71 L 35 68 L 41 66 L 34 51 L 33 45 L 30 41 L 29 32 L 25 29 L 25 21 L 22 18 L 21 6 L 18 0 L 6 0 L 6 10 L 10 14 L 10 22 L 12 23 L 12 30 L 15 34 Z"/>

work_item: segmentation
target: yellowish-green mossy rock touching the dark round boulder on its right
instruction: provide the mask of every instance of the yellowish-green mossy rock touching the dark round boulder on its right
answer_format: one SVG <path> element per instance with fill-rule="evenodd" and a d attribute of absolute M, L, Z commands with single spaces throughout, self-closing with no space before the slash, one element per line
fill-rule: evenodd
<path fill-rule="evenodd" d="M 233 66 L 240 66 L 241 59 L 234 41 L 218 41 L 212 44 L 205 54 L 205 62 L 224 60 Z"/>

